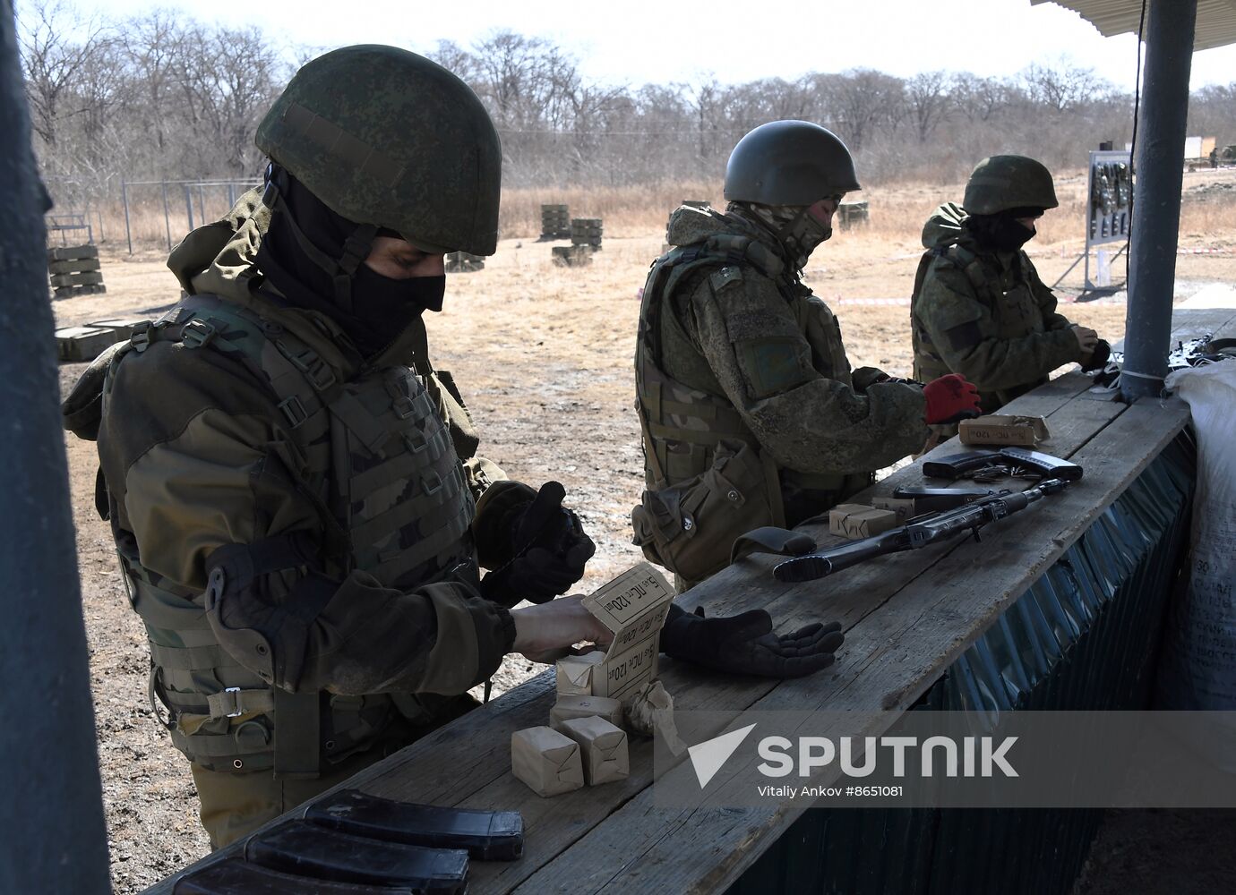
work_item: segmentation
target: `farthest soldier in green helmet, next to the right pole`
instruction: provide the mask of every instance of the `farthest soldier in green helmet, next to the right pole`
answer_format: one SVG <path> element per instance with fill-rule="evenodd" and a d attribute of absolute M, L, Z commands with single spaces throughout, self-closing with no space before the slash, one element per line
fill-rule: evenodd
<path fill-rule="evenodd" d="M 963 205 L 942 205 L 923 227 L 927 252 L 911 300 L 915 377 L 959 373 L 991 412 L 1077 362 L 1101 369 L 1109 344 L 1056 310 L 1022 246 L 1059 205 L 1052 174 L 1025 156 L 983 159 Z M 948 437 L 955 426 L 939 427 Z"/>

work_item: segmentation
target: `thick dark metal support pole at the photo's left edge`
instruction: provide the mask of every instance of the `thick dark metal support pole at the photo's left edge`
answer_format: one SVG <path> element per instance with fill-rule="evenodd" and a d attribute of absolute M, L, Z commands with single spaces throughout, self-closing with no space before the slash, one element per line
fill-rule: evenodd
<path fill-rule="evenodd" d="M 110 893 L 47 300 L 51 199 L 0 0 L 0 893 Z"/>

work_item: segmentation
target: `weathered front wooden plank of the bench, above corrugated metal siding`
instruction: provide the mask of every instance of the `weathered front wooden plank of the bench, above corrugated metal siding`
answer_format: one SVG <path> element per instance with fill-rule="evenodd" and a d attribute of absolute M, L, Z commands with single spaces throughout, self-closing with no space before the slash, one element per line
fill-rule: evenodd
<path fill-rule="evenodd" d="M 1063 554 L 1187 420 L 1188 409 L 1178 400 L 1164 406 L 1143 400 L 1130 407 L 1101 438 L 1074 454 L 1086 467 L 1085 486 L 1058 495 L 1058 514 L 1031 516 L 1018 530 L 991 528 L 981 551 L 949 554 L 849 632 L 848 662 L 839 674 L 786 681 L 754 709 L 910 705 Z M 958 588 L 958 581 L 965 584 Z M 811 783 L 827 785 L 833 779 L 836 772 Z M 645 790 L 519 891 L 637 891 L 648 888 L 654 870 L 660 891 L 716 891 L 735 880 L 765 843 L 806 809 L 790 801 L 776 809 L 734 811 L 718 807 L 723 800 L 722 788 L 697 811 L 674 811 L 656 806 L 651 790 Z M 593 888 L 601 880 L 603 885 Z"/>

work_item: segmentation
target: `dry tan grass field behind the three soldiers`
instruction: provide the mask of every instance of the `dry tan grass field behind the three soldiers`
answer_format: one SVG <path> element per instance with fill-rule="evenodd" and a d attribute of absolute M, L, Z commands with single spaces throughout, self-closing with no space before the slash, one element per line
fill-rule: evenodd
<path fill-rule="evenodd" d="M 1047 283 L 1080 251 L 1084 185 L 1080 177 L 1062 178 L 1063 207 L 1044 219 L 1041 237 L 1030 243 Z M 1209 283 L 1236 281 L 1234 185 L 1234 172 L 1187 174 L 1182 244 L 1219 252 L 1179 257 L 1177 299 Z M 552 478 L 566 486 L 598 547 L 581 589 L 637 559 L 628 532 L 643 478 L 632 409 L 637 293 L 660 252 L 669 210 L 682 199 L 719 202 L 707 189 L 677 184 L 630 193 L 512 195 L 504 200 L 508 237 L 497 254 L 482 272 L 451 275 L 444 311 L 428 321 L 434 359 L 455 374 L 483 433 L 482 453 L 513 478 L 533 484 Z M 910 373 L 908 294 L 921 252 L 918 231 L 934 205 L 960 194 L 959 184 L 873 189 L 861 196 L 871 202 L 870 226 L 838 232 L 816 252 L 807 281 L 837 311 L 854 367 Z M 574 216 L 604 220 L 604 248 L 592 265 L 550 263 L 549 244 L 535 242 L 541 201 L 567 201 Z M 142 228 L 158 241 L 161 211 L 157 221 L 145 219 Z M 163 253 L 147 247 L 129 256 L 122 228 L 120 238 L 116 232 L 109 225 L 103 247 L 108 293 L 57 301 L 59 326 L 153 316 L 177 300 Z M 1114 267 L 1122 277 L 1124 264 Z M 1060 288 L 1062 298 L 1073 298 L 1079 284 L 1080 268 Z M 871 302 L 876 299 L 889 301 Z M 1119 294 L 1100 302 L 1062 302 L 1062 309 L 1109 339 L 1122 336 Z M 62 385 L 68 388 L 80 369 L 66 365 Z M 108 527 L 93 509 L 93 446 L 69 437 L 67 451 L 112 881 L 117 893 L 131 893 L 201 857 L 208 846 L 188 772 L 151 717 L 145 637 L 129 611 Z M 499 688 L 535 670 L 523 659 L 509 660 Z"/>

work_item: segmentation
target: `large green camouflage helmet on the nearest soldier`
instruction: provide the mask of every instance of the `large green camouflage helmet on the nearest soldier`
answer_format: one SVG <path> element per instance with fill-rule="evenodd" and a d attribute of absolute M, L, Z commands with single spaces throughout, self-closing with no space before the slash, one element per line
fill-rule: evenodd
<path fill-rule="evenodd" d="M 498 132 L 471 88 L 424 57 L 377 44 L 318 57 L 256 142 L 350 221 L 433 253 L 497 248 Z"/>

